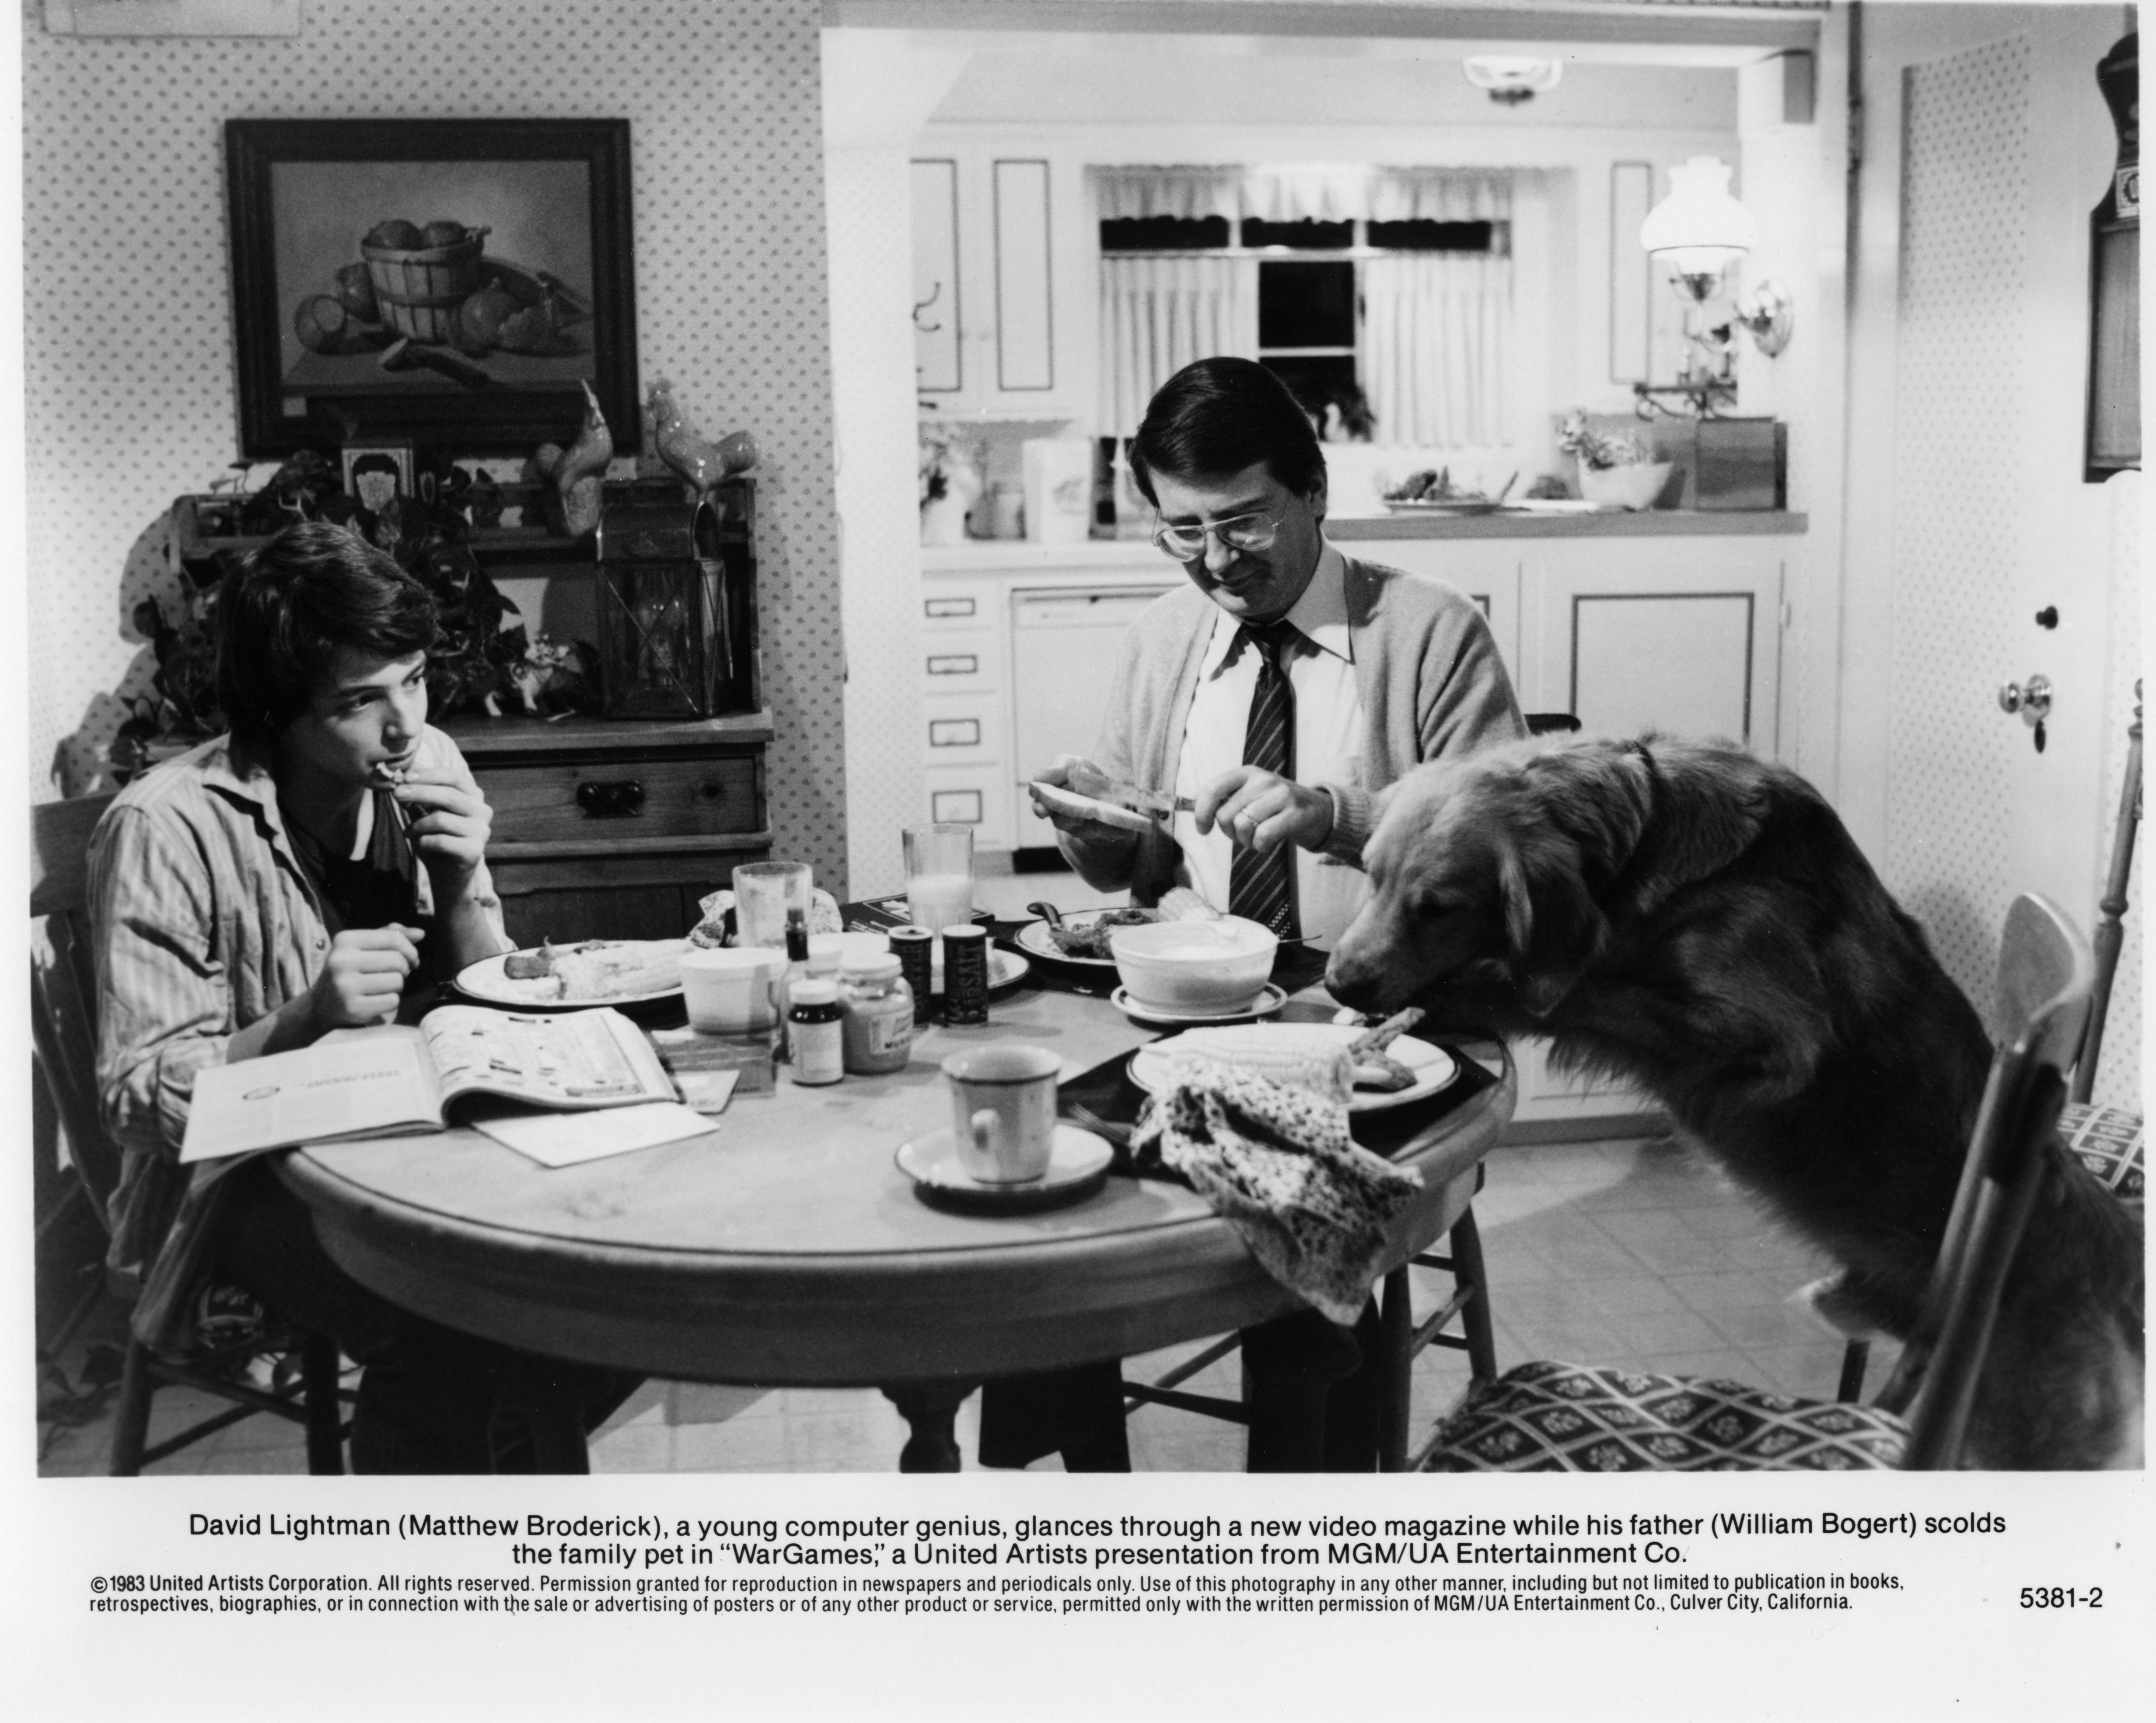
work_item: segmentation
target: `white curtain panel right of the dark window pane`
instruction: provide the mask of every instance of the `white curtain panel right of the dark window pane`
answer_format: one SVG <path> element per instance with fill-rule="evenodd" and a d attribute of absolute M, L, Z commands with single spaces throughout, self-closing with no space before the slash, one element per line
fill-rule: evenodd
<path fill-rule="evenodd" d="M 1373 257 L 1363 265 L 1363 392 L 1380 442 L 1509 440 L 1509 257 Z"/>

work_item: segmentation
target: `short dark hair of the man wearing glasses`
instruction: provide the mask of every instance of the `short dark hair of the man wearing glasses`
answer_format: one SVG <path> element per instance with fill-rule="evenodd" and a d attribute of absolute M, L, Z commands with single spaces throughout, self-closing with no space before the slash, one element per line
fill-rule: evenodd
<path fill-rule="evenodd" d="M 1309 496 L 1326 470 L 1311 418 L 1253 358 L 1201 358 L 1169 377 L 1130 444 L 1130 474 L 1158 507 L 1153 474 L 1227 479 L 1266 464 L 1283 490 Z"/>

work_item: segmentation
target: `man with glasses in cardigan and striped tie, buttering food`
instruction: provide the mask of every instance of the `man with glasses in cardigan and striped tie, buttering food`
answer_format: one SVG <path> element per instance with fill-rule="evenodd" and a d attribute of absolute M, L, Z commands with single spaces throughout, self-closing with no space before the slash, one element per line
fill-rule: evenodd
<path fill-rule="evenodd" d="M 1524 735 L 1496 643 L 1464 593 L 1326 541 L 1317 436 L 1255 360 L 1169 377 L 1132 470 L 1190 587 L 1132 623 L 1095 759 L 1039 778 L 1134 785 L 1184 811 L 1132 832 L 1035 807 L 1102 891 L 1151 904 L 1181 869 L 1231 914 L 1332 940 L 1367 891 L 1371 798 L 1427 759 Z"/>

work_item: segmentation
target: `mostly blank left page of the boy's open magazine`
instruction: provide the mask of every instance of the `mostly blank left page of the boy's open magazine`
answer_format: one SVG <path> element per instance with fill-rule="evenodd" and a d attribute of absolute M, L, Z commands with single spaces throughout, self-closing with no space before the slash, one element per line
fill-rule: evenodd
<path fill-rule="evenodd" d="M 220 1160 L 438 1124 L 440 1091 L 420 1031 L 364 1029 L 298 1052 L 205 1070 L 194 1080 L 179 1158 Z"/>

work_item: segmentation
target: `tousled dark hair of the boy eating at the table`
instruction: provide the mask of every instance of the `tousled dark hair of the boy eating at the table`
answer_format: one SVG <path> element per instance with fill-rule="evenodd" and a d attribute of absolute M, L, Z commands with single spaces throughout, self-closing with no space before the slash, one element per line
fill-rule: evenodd
<path fill-rule="evenodd" d="M 358 533 L 287 526 L 218 589 L 218 705 L 267 742 L 313 705 L 343 647 L 405 658 L 436 640 L 433 597 Z"/>

